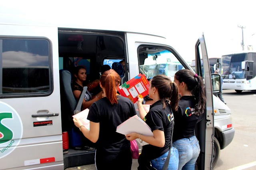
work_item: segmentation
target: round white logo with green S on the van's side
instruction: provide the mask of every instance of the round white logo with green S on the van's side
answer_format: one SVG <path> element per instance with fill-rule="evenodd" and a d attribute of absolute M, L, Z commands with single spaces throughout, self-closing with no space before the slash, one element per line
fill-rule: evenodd
<path fill-rule="evenodd" d="M 18 113 L 0 101 L 0 158 L 10 154 L 20 143 L 23 125 Z"/>

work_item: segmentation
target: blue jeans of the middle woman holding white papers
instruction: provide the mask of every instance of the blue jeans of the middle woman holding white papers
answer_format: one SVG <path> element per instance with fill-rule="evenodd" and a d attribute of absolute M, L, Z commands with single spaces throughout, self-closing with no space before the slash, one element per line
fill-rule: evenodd
<path fill-rule="evenodd" d="M 170 150 L 162 154 L 162 156 L 151 160 L 151 166 L 156 168 L 157 170 L 162 170 L 164 166 L 164 162 L 168 156 Z M 171 156 L 169 160 L 168 170 L 177 170 L 179 164 L 179 154 L 178 150 L 174 147 L 171 148 Z"/>

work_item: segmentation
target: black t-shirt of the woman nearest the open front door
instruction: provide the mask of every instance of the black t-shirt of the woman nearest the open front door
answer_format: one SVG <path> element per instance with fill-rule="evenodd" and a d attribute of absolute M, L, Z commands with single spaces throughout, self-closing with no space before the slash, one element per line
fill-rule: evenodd
<path fill-rule="evenodd" d="M 174 112 L 173 142 L 194 136 L 194 128 L 199 116 L 195 114 L 196 99 L 194 96 L 182 96 L 178 111 Z"/>

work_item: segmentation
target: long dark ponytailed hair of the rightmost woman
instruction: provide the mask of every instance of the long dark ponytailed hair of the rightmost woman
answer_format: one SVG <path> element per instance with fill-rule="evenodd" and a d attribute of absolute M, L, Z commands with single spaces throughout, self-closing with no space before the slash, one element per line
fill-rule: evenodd
<path fill-rule="evenodd" d="M 191 94 L 195 96 L 197 103 L 195 106 L 196 115 L 204 113 L 206 97 L 202 77 L 193 73 L 189 69 L 183 69 L 175 73 L 175 79 L 177 79 L 180 83 L 184 82 Z"/>

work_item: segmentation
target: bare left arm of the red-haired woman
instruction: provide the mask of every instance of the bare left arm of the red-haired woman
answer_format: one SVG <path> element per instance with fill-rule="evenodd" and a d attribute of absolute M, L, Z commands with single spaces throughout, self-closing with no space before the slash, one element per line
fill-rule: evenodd
<path fill-rule="evenodd" d="M 74 121 L 76 127 L 78 127 L 78 128 L 83 125 L 79 119 L 74 118 L 73 121 Z M 88 130 L 85 127 L 81 127 L 81 132 L 90 141 L 96 143 L 99 139 L 100 123 L 95 123 L 95 122 L 90 121 L 90 130 Z"/>

